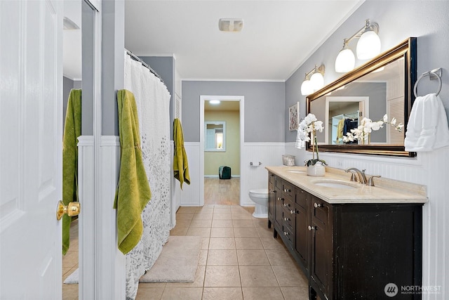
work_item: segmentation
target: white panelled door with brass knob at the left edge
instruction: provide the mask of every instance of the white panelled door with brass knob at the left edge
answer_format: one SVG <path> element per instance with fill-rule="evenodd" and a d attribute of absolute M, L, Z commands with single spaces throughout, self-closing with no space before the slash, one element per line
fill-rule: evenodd
<path fill-rule="evenodd" d="M 60 299 L 62 1 L 0 1 L 0 299 Z"/>

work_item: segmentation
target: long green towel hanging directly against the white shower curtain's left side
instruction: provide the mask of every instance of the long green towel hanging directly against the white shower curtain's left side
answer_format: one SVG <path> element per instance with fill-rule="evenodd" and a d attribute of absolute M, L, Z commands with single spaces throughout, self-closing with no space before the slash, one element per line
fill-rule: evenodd
<path fill-rule="evenodd" d="M 142 211 L 152 197 L 140 148 L 138 111 L 133 93 L 117 93 L 121 145 L 120 177 L 114 208 L 117 209 L 118 246 L 130 252 L 142 237 Z"/>

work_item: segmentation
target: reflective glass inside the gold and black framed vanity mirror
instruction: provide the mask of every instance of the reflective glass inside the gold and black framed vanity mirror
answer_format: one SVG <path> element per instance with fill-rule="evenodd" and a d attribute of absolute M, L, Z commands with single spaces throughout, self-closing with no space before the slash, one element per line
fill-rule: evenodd
<path fill-rule="evenodd" d="M 343 136 L 356 129 L 363 117 L 374 122 L 385 114 L 389 119 L 404 122 L 404 60 L 394 60 L 336 91 L 314 100 L 310 112 L 323 119 L 325 129 L 318 142 L 324 145 L 354 145 L 344 142 Z M 384 126 L 370 133 L 370 144 L 403 145 L 404 133 L 393 126 Z"/>

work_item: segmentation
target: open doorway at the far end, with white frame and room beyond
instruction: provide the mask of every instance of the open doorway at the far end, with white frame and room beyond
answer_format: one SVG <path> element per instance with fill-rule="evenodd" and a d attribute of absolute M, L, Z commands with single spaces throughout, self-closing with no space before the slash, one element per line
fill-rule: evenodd
<path fill-rule="evenodd" d="M 241 203 L 243 101 L 243 96 L 200 96 L 201 205 Z M 220 179 L 220 166 L 230 168 L 230 179 Z"/>

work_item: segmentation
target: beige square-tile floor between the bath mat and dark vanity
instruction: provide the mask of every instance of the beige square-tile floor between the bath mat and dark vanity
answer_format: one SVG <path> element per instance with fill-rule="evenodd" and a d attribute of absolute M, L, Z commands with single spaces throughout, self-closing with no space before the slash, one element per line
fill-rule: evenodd
<path fill-rule="evenodd" d="M 194 282 L 140 283 L 138 300 L 308 299 L 307 278 L 253 208 L 181 207 L 170 235 L 203 237 Z"/>

